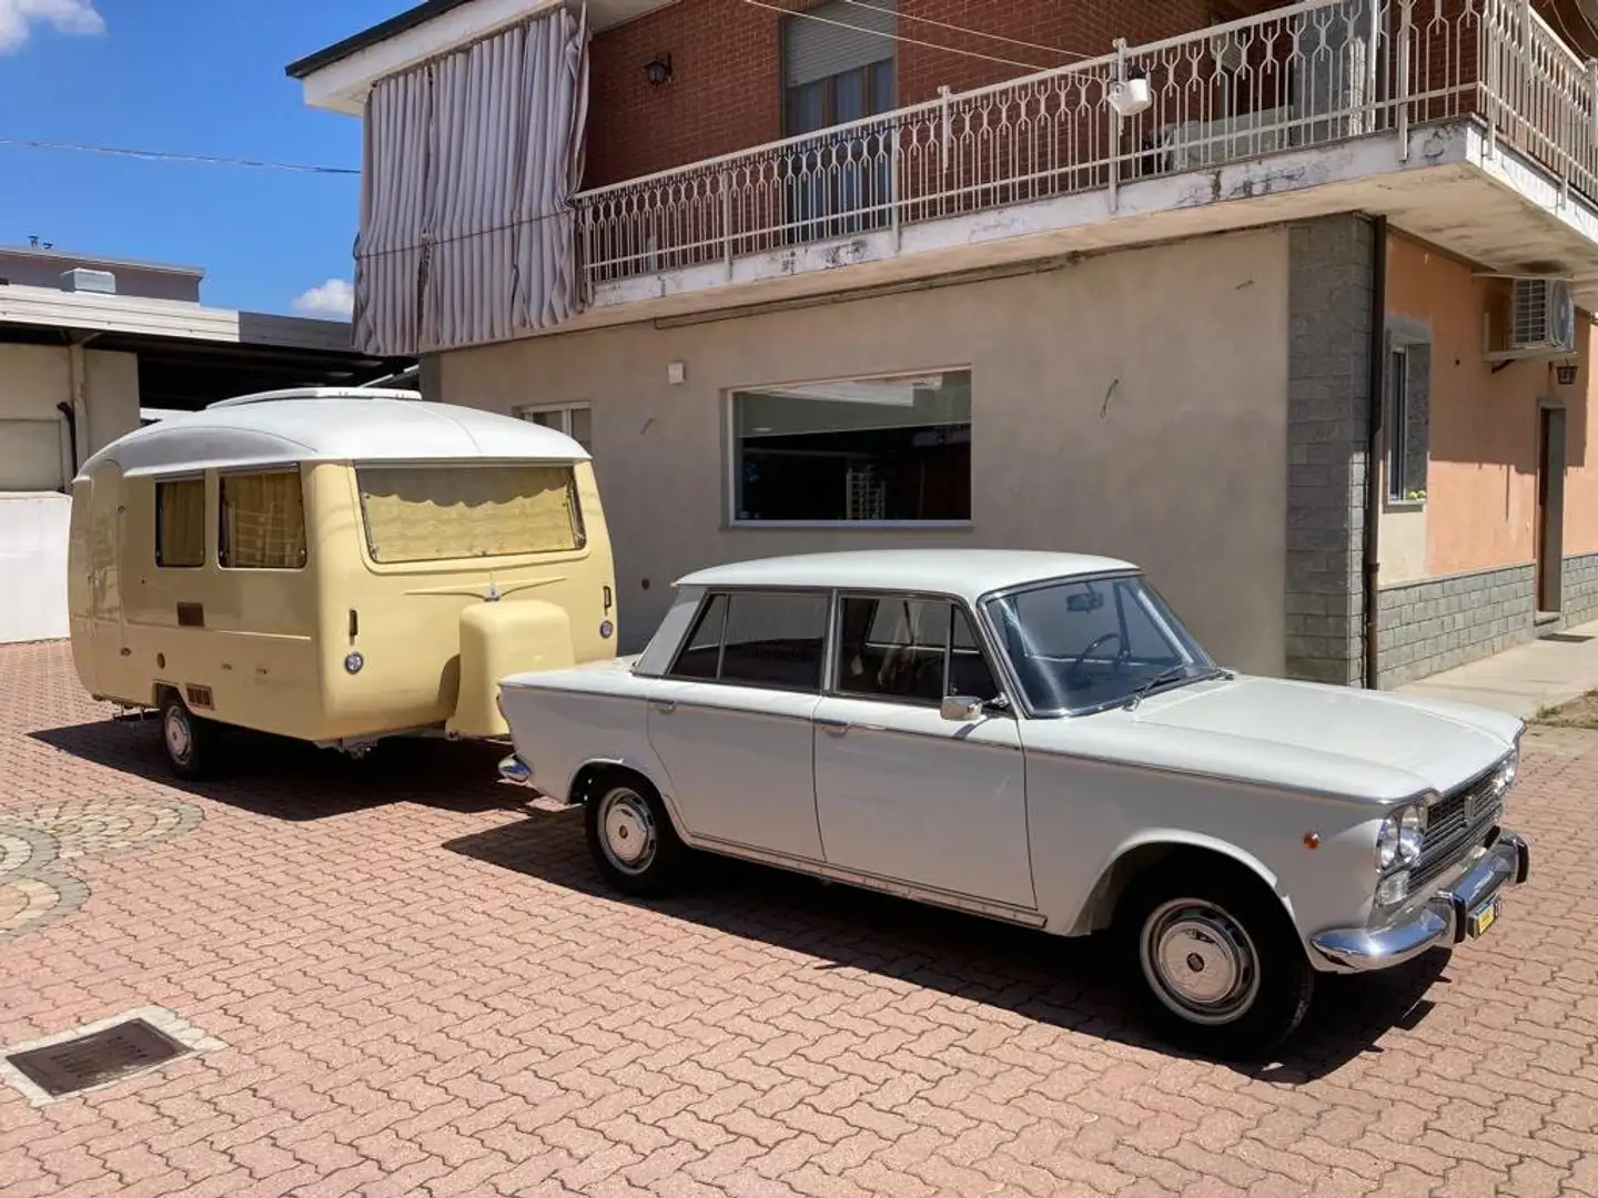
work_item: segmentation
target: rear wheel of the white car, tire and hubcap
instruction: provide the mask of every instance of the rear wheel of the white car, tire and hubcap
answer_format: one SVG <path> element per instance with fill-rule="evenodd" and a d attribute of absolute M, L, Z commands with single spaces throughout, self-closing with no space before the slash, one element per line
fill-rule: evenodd
<path fill-rule="evenodd" d="M 583 803 L 583 826 L 594 866 L 612 890 L 660 898 L 681 883 L 689 848 L 647 779 L 625 772 L 596 778 Z"/>

